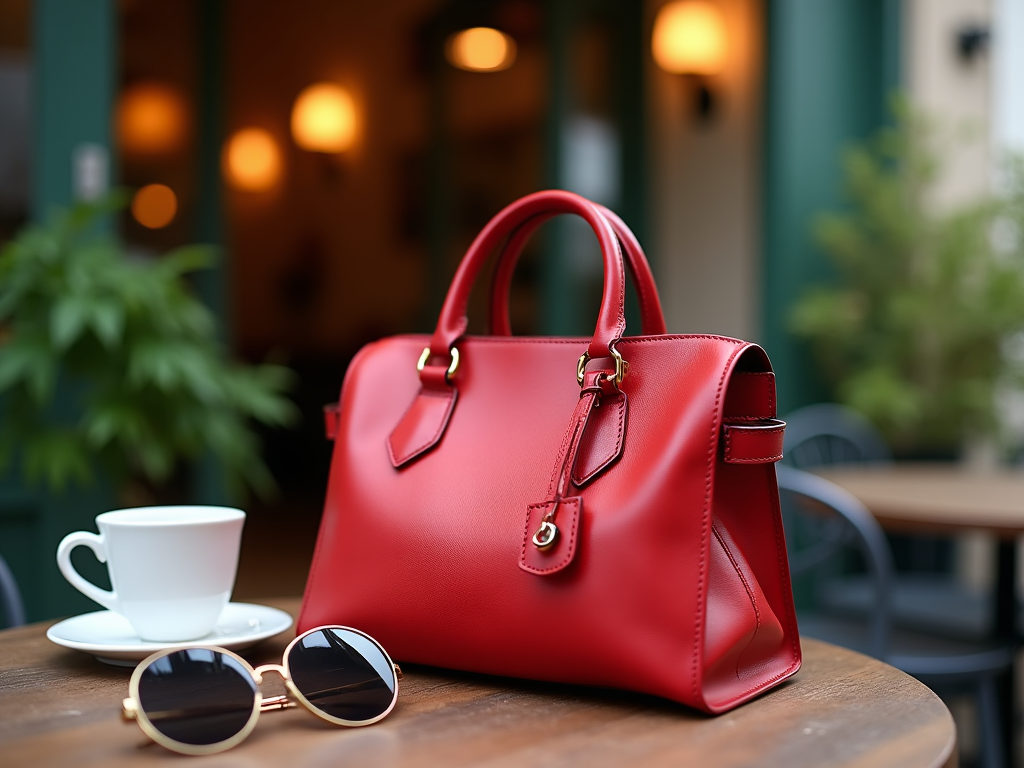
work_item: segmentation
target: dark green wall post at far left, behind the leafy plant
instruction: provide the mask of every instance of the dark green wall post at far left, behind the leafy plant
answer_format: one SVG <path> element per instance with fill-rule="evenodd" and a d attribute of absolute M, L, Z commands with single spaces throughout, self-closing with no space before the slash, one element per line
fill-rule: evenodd
<path fill-rule="evenodd" d="M 116 84 L 117 34 L 114 0 L 37 0 L 33 4 L 32 216 L 45 220 L 74 202 L 73 157 L 94 144 L 113 157 L 111 113 Z M 105 169 L 113 177 L 111 164 Z M 71 418 L 73 390 L 59 384 L 57 419 Z M 97 473 L 95 482 L 65 494 L 27 487 L 16 471 L 0 478 L 0 554 L 22 589 L 29 621 L 98 608 L 57 570 L 60 539 L 72 530 L 95 530 L 94 517 L 114 505 L 115 495 Z M 105 568 L 89 552 L 75 562 L 104 585 Z"/>

